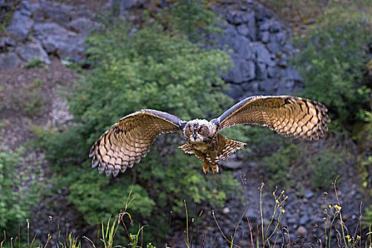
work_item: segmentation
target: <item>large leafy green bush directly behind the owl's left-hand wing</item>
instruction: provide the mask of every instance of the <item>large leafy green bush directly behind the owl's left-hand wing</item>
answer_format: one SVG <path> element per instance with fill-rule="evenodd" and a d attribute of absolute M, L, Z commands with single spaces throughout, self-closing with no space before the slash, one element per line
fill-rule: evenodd
<path fill-rule="evenodd" d="M 210 118 L 232 103 L 222 93 L 220 74 L 231 63 L 225 52 L 201 49 L 180 30 L 164 32 L 157 21 L 130 30 L 118 21 L 88 38 L 93 69 L 68 98 L 78 124 L 63 133 L 40 133 L 47 137 L 41 140 L 47 159 L 57 165 L 58 184 L 69 189 L 69 201 L 89 225 L 118 213 L 131 188 L 136 197 L 132 213 L 141 218 L 157 213 L 150 222 L 157 227 L 169 210 L 181 212 L 184 199 L 221 206 L 238 185 L 229 171 L 204 176 L 196 157 L 176 149 L 179 135 L 164 135 L 140 164 L 115 179 L 83 169 L 91 162 L 84 162 L 89 147 L 123 115 L 154 108 L 185 120 Z"/>

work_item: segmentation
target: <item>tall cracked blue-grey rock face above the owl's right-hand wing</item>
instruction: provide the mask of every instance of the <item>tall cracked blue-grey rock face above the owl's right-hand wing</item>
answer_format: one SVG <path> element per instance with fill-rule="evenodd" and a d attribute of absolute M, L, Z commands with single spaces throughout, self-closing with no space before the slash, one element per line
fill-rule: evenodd
<path fill-rule="evenodd" d="M 227 45 L 232 50 L 235 64 L 223 76 L 230 83 L 227 94 L 236 100 L 257 94 L 294 94 L 303 79 L 287 65 L 293 54 L 290 30 L 263 6 L 253 1 L 241 4 L 245 5 L 232 4 L 223 13 L 226 35 L 216 40 L 220 47 Z"/>

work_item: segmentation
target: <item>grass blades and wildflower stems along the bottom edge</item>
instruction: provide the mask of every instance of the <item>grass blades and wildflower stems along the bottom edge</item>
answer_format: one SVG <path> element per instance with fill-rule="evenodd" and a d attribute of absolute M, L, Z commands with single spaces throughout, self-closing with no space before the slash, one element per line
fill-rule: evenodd
<path fill-rule="evenodd" d="M 337 177 L 338 179 L 338 177 Z M 212 210 L 212 215 L 215 220 L 215 225 L 218 227 L 218 230 L 220 230 L 220 234 L 225 239 L 226 244 L 229 247 L 237 247 L 241 248 L 240 245 L 237 244 L 235 238 L 237 234 L 237 230 L 239 228 L 247 227 L 247 230 L 249 230 L 249 246 L 250 248 L 254 247 L 314 247 L 313 245 L 316 245 L 315 247 L 347 247 L 347 248 L 354 248 L 354 247 L 363 247 L 363 248 L 371 248 L 372 247 L 372 240 L 371 235 L 372 232 L 366 232 L 362 233 L 361 229 L 361 216 L 362 213 L 360 211 L 359 215 L 359 222 L 356 226 L 356 229 L 354 231 L 349 230 L 345 223 L 344 218 L 342 215 L 342 205 L 339 202 L 339 196 L 337 192 L 337 179 L 334 181 L 334 193 L 337 199 L 336 203 L 331 203 L 325 208 L 325 199 L 323 198 L 322 205 L 320 206 L 320 210 L 317 213 L 317 217 L 312 223 L 312 227 L 308 232 L 301 238 L 298 238 L 296 240 L 291 241 L 289 238 L 289 230 L 288 227 L 283 225 L 281 223 L 282 216 L 286 214 L 286 210 L 284 210 L 283 206 L 286 201 L 288 201 L 288 196 L 286 196 L 285 191 L 281 191 L 281 193 L 278 193 L 278 188 L 276 187 L 274 192 L 272 193 L 274 197 L 274 210 L 269 218 L 269 224 L 264 225 L 264 216 L 262 205 L 264 204 L 262 193 L 264 189 L 264 184 L 261 184 L 259 187 L 259 193 L 260 193 L 260 202 L 259 202 L 259 208 L 260 208 L 260 222 L 257 224 L 257 227 L 252 228 L 251 221 L 249 218 L 246 218 L 246 222 L 244 222 L 244 216 L 247 213 L 247 205 L 245 207 L 244 212 L 242 213 L 239 220 L 237 220 L 237 225 L 235 227 L 234 232 L 232 235 L 226 235 L 225 232 L 222 230 L 223 228 L 219 225 L 217 218 L 215 217 L 215 211 Z M 131 192 L 130 192 L 131 193 Z M 98 243 L 94 243 L 91 239 L 88 237 L 82 237 L 83 239 L 88 240 L 91 243 L 91 247 L 98 248 L 98 247 L 104 247 L 104 248 L 113 248 L 113 247 L 123 247 L 123 248 L 156 248 L 151 242 L 148 242 L 147 244 L 143 244 L 143 236 L 146 235 L 145 233 L 145 227 L 146 226 L 139 226 L 137 229 L 137 232 L 130 233 L 128 231 L 128 226 L 125 224 L 125 218 L 128 218 L 127 220 L 130 221 L 130 224 L 133 225 L 133 218 L 128 213 L 127 208 L 128 205 L 132 201 L 134 201 L 134 198 L 129 196 L 125 202 L 125 208 L 124 210 L 121 210 L 119 215 L 115 218 L 109 218 L 108 222 L 106 224 L 101 224 L 101 238 L 99 239 Z M 245 202 L 247 203 L 247 199 L 245 199 Z M 192 247 L 205 247 L 205 240 L 206 235 L 203 236 L 203 239 L 200 244 L 198 244 L 198 229 L 200 228 L 198 226 L 198 217 L 196 217 L 196 220 L 194 218 L 191 218 L 191 225 L 189 225 L 189 216 L 188 216 L 188 208 L 186 205 L 186 201 L 184 201 L 184 208 L 186 213 L 186 220 L 185 225 L 186 229 L 184 233 L 186 233 L 186 237 L 184 237 L 184 244 L 186 244 L 186 247 L 192 248 Z M 324 216 L 323 220 L 325 222 L 324 227 L 324 235 L 320 235 L 320 237 L 317 237 L 317 242 L 309 243 L 307 242 L 308 238 L 312 234 L 312 230 L 314 230 L 317 227 L 317 220 L 318 218 Z M 126 244 L 115 244 L 115 239 L 118 235 L 118 228 L 124 227 L 126 235 L 128 237 L 128 242 Z M 169 218 L 169 228 L 171 227 L 171 216 Z M 337 235 L 334 235 L 334 233 L 337 233 Z M 50 235 L 47 237 L 47 242 L 45 244 L 37 244 L 35 242 L 35 237 L 30 237 L 30 223 L 27 221 L 27 239 L 26 242 L 21 243 L 21 234 L 18 232 L 18 236 L 11 239 L 9 237 L 6 237 L 6 232 L 4 231 L 4 240 L 0 242 L 0 248 L 10 248 L 10 247 L 27 247 L 27 248 L 33 248 L 33 247 L 48 247 L 48 243 L 50 239 L 52 238 Z M 58 237 L 60 239 L 60 235 Z M 66 237 L 64 238 L 64 241 L 58 241 L 57 247 L 69 247 L 69 248 L 80 248 L 81 247 L 81 239 L 79 237 L 75 237 L 70 232 Z M 362 243 L 363 239 L 363 243 Z M 30 241 L 31 240 L 31 241 Z M 281 240 L 281 242 L 279 242 Z M 169 242 L 169 241 L 168 241 Z M 194 242 L 194 244 L 193 244 Z M 164 247 L 168 247 L 168 244 L 164 244 Z M 246 246 L 247 247 L 247 246 Z"/>

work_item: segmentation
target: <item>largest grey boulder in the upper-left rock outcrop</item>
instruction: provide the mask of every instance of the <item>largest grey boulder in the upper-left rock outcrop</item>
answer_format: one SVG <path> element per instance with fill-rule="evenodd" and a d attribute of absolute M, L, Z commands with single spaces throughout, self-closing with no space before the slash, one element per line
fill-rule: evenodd
<path fill-rule="evenodd" d="M 85 58 L 85 36 L 57 25 L 57 23 L 35 23 L 35 38 L 41 41 L 48 53 L 60 58 L 69 57 L 75 62 Z"/>

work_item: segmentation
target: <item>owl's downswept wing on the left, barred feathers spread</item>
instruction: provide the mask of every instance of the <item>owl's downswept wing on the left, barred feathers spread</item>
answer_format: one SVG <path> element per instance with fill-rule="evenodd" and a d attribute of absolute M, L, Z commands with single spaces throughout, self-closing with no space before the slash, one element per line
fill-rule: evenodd
<path fill-rule="evenodd" d="M 186 121 L 175 115 L 152 109 L 142 109 L 121 118 L 106 130 L 91 147 L 92 167 L 99 173 L 106 169 L 109 176 L 140 162 L 150 152 L 152 143 L 162 133 L 180 131 Z"/>

